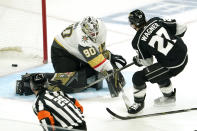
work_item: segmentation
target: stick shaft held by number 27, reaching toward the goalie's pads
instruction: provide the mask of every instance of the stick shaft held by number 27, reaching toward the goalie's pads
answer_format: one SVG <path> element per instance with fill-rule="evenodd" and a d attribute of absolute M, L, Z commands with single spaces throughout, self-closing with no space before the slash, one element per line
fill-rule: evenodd
<path fill-rule="evenodd" d="M 99 83 L 100 81 L 102 81 L 102 80 L 104 80 L 104 79 L 106 79 L 106 78 L 112 76 L 114 73 L 119 72 L 119 71 L 122 71 L 122 70 L 126 69 L 127 67 L 129 67 L 129 66 L 131 66 L 131 65 L 133 65 L 133 64 L 134 64 L 133 62 L 130 63 L 130 64 L 127 64 L 126 66 L 124 66 L 124 67 L 122 67 L 122 68 L 120 68 L 120 69 L 117 69 L 115 72 L 113 72 L 113 73 L 111 73 L 111 74 L 108 74 L 108 75 L 106 75 L 106 76 L 104 76 L 104 77 L 102 77 L 102 78 L 100 78 L 100 79 L 98 79 L 98 80 L 96 80 L 96 81 L 90 83 L 89 85 L 85 86 L 84 88 L 86 89 L 86 88 L 88 88 L 88 87 L 91 87 L 91 86 L 93 86 L 93 85 Z"/>

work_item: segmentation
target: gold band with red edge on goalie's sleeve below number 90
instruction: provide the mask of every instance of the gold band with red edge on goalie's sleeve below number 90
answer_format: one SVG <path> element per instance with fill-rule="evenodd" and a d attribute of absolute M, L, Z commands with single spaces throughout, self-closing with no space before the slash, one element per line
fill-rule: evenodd
<path fill-rule="evenodd" d="M 105 61 L 106 61 L 105 57 L 102 54 L 100 54 L 97 57 L 95 57 L 94 59 L 88 61 L 88 64 L 91 67 L 96 68 L 99 65 L 101 65 L 102 63 L 104 63 Z"/>

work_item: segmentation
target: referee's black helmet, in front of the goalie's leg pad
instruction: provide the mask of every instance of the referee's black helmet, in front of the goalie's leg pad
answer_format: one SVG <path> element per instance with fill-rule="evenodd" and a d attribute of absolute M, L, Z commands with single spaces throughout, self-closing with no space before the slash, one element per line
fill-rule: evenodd
<path fill-rule="evenodd" d="M 48 80 L 42 73 L 32 74 L 30 78 L 30 87 L 32 90 L 43 90 L 48 87 Z"/>

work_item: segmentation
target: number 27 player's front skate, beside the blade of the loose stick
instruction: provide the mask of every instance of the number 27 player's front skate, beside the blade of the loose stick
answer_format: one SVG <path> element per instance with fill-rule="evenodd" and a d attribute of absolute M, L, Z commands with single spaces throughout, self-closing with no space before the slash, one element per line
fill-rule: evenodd
<path fill-rule="evenodd" d="M 129 107 L 128 113 L 130 114 L 136 114 L 140 112 L 144 108 L 144 102 L 143 103 L 134 103 L 132 106 Z"/>

